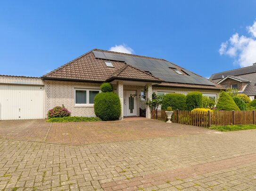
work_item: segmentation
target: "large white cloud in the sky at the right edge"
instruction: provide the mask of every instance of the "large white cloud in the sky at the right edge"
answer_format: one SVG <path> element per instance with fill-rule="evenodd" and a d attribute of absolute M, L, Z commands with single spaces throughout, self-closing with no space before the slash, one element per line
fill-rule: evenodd
<path fill-rule="evenodd" d="M 220 46 L 220 55 L 228 55 L 234 58 L 234 63 L 240 67 L 250 66 L 256 62 L 256 21 L 247 27 L 250 37 L 239 36 L 235 33 L 229 40 Z"/>

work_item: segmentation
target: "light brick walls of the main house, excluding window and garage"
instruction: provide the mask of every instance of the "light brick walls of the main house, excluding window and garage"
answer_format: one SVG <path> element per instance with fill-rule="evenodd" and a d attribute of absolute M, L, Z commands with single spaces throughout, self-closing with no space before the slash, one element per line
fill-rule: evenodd
<path fill-rule="evenodd" d="M 71 81 L 55 81 L 55 80 L 45 80 L 44 81 L 44 114 L 47 117 L 47 112 L 49 109 L 55 106 L 61 106 L 62 104 L 71 112 L 72 116 L 95 116 L 93 106 L 75 106 L 74 101 L 74 91 L 75 89 L 99 89 L 99 83 L 84 83 L 84 82 L 71 82 Z M 152 92 L 175 92 L 187 94 L 193 91 L 199 91 L 205 94 L 215 94 L 218 95 L 218 90 L 199 90 L 199 89 L 185 89 L 185 88 L 169 88 L 169 87 L 156 87 L 149 85 L 148 96 L 152 99 Z M 123 85 L 123 82 L 118 82 L 114 86 L 115 92 L 120 97 L 121 106 L 123 106 L 123 92 L 126 90 L 136 91 L 137 96 L 137 116 L 140 115 L 140 108 L 147 108 L 145 105 L 145 100 L 141 99 L 141 92 L 144 91 L 144 86 L 127 86 Z M 124 115 L 124 108 L 121 109 L 122 114 L 120 119 Z M 150 116 L 150 109 L 146 109 L 146 115 Z"/>

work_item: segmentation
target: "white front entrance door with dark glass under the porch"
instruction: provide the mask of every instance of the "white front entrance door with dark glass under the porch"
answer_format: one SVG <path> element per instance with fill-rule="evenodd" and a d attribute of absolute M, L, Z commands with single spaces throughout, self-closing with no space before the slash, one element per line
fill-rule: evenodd
<path fill-rule="evenodd" d="M 124 116 L 137 115 L 136 91 L 124 91 Z"/>

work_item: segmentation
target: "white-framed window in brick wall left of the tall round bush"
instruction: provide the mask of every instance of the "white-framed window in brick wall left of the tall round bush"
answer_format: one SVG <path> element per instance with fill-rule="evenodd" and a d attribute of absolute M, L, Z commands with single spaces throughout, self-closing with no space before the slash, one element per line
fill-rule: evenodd
<path fill-rule="evenodd" d="M 99 90 L 90 89 L 75 89 L 74 90 L 74 103 L 75 105 L 93 105 L 94 97 Z"/>

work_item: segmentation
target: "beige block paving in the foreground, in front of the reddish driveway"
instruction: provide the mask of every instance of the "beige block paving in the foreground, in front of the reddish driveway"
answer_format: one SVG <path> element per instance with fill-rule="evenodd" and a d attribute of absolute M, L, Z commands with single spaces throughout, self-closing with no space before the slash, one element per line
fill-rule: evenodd
<path fill-rule="evenodd" d="M 256 130 L 196 129 L 87 145 L 0 138 L 0 190 L 255 191 Z"/>

